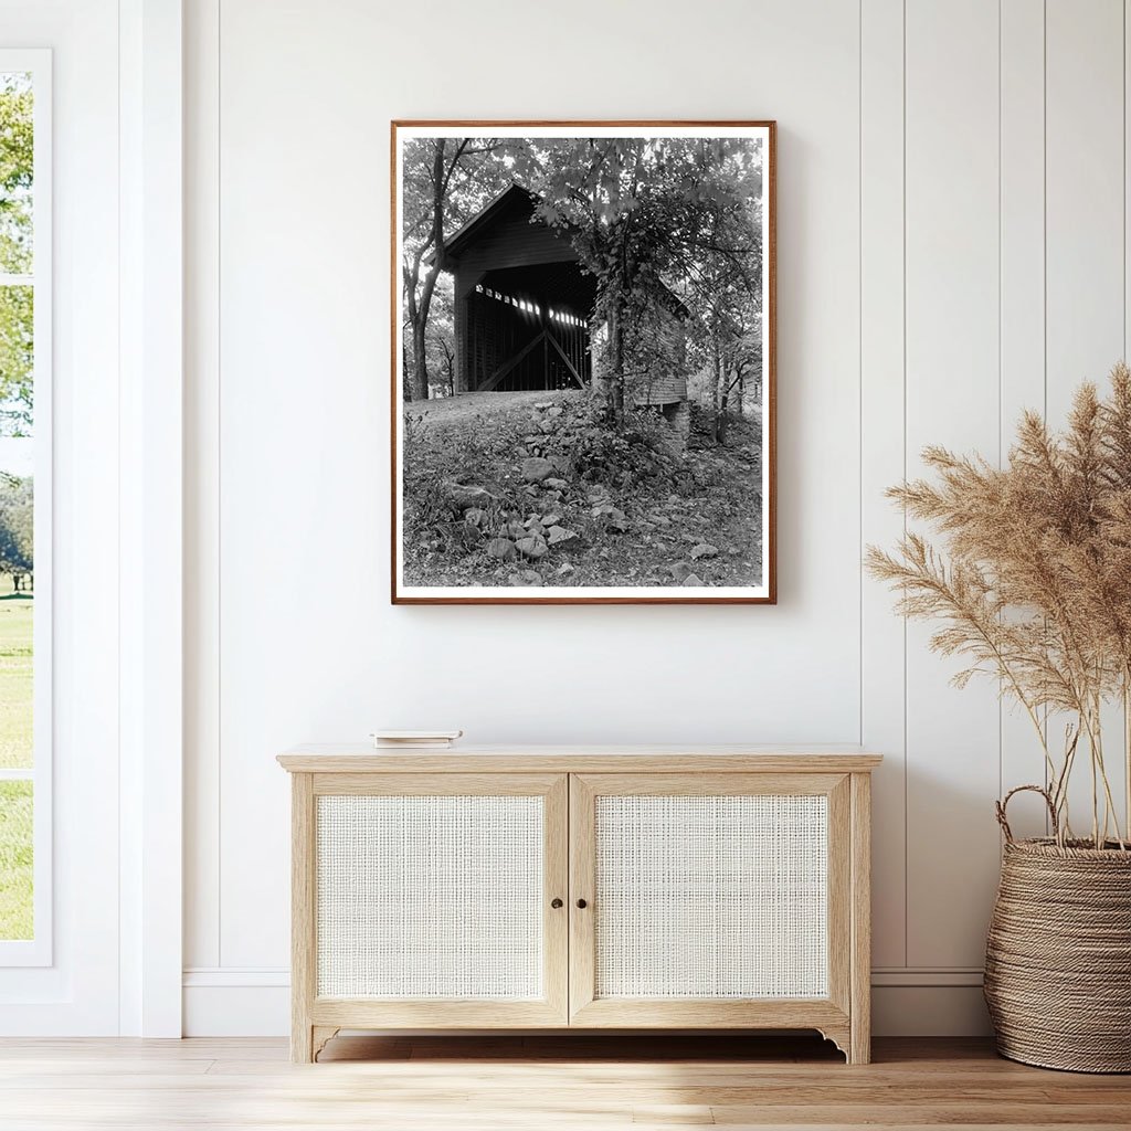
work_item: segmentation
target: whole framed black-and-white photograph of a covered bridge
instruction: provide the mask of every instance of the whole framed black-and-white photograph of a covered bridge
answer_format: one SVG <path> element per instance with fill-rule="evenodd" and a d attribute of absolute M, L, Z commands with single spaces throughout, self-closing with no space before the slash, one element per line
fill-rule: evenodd
<path fill-rule="evenodd" d="M 772 604 L 774 122 L 403 121 L 394 604 Z"/>

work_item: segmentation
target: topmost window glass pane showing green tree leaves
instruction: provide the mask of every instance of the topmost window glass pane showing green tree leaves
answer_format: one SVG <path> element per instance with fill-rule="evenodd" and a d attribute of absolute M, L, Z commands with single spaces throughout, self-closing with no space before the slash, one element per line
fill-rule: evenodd
<path fill-rule="evenodd" d="M 0 271 L 32 270 L 32 76 L 0 75 Z"/>

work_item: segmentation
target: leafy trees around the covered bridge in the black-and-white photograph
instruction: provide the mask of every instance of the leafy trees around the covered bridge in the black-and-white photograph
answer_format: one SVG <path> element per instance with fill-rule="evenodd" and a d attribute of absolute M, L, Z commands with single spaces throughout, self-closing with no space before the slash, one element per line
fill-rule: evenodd
<path fill-rule="evenodd" d="M 452 336 L 438 304 L 444 243 L 512 183 L 568 238 L 597 284 L 595 394 L 620 420 L 633 395 L 710 370 L 725 420 L 761 369 L 763 153 L 749 138 L 412 138 L 404 149 L 403 283 L 412 399 L 447 382 Z M 430 330 L 433 318 L 440 333 Z M 722 440 L 722 434 L 719 435 Z"/>

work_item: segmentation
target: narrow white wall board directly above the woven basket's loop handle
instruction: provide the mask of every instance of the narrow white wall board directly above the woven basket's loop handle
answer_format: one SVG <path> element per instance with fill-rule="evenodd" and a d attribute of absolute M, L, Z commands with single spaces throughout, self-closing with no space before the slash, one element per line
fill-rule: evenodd
<path fill-rule="evenodd" d="M 1045 406 L 1045 11 L 1001 0 L 1001 459 L 1026 409 Z M 987 455 L 990 455 L 987 452 Z M 1044 752 L 1024 708 L 1003 700 L 1001 788 L 1044 780 Z M 1045 830 L 1022 796 L 1013 831 Z"/>

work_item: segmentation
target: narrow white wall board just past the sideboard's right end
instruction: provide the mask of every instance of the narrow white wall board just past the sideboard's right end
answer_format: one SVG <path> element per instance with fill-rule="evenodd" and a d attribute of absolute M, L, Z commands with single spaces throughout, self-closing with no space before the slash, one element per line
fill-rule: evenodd
<path fill-rule="evenodd" d="M 861 524 L 862 543 L 892 545 L 903 515 L 883 492 L 904 477 L 904 5 L 861 7 Z M 873 775 L 872 961 L 906 960 L 905 629 L 886 586 L 861 594 L 861 729 L 882 750 Z"/>

